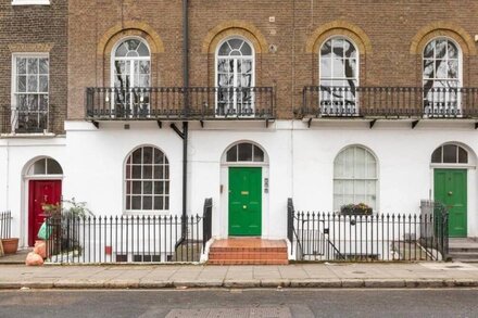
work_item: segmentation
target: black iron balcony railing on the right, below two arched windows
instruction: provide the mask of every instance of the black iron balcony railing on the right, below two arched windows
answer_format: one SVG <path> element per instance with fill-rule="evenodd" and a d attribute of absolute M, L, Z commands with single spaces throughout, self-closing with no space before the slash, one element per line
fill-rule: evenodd
<path fill-rule="evenodd" d="M 478 117 L 478 88 L 310 86 L 302 116 Z"/>

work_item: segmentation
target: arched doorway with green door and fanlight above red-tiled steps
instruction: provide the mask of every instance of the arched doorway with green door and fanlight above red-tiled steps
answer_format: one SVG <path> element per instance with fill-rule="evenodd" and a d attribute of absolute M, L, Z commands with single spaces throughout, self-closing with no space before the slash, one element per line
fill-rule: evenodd
<path fill-rule="evenodd" d="M 222 204 L 229 237 L 261 237 L 267 208 L 268 158 L 252 142 L 229 147 L 222 158 Z"/>

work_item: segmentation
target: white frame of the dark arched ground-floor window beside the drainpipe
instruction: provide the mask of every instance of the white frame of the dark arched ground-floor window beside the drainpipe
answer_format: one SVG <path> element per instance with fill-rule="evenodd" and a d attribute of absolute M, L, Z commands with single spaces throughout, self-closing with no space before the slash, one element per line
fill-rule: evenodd
<path fill-rule="evenodd" d="M 153 167 L 154 167 L 154 158 L 153 157 L 151 158 L 153 161 L 153 164 L 151 164 L 151 167 L 152 167 L 151 168 L 151 176 L 152 176 L 152 178 L 151 179 L 143 179 L 143 177 L 142 177 L 142 170 L 143 170 L 142 167 L 144 165 L 143 157 L 141 157 L 141 164 L 140 164 L 140 166 L 141 166 L 141 178 L 140 179 L 133 178 L 133 166 L 134 166 L 134 164 L 133 164 L 133 154 L 135 153 L 135 151 L 137 151 L 139 149 L 142 149 L 142 148 L 152 148 L 153 149 L 153 154 L 154 154 L 154 150 L 158 150 L 158 151 L 160 151 L 163 154 L 164 163 L 163 164 L 159 164 L 159 165 L 160 166 L 164 166 L 164 169 L 165 169 L 164 170 L 164 175 L 166 175 L 166 170 L 167 170 L 167 178 L 154 179 L 154 169 L 153 169 Z M 142 156 L 143 156 L 143 154 L 142 154 Z M 128 167 L 128 158 L 129 157 L 131 157 L 130 178 L 127 177 L 127 167 Z M 135 164 L 135 165 L 139 166 L 139 164 Z M 163 177 L 165 177 L 165 176 L 163 176 Z M 131 182 L 131 190 L 130 190 L 129 194 L 127 193 L 128 181 Z M 133 193 L 133 181 L 140 181 L 141 182 L 141 193 L 137 193 L 137 194 Z M 143 181 L 151 181 L 152 182 L 151 194 L 144 194 L 143 193 L 144 192 L 143 187 L 142 187 L 142 182 Z M 159 193 L 159 194 L 154 193 L 154 182 L 156 182 L 156 181 L 158 182 L 164 182 L 164 188 L 163 188 L 164 192 L 163 193 Z M 169 185 L 168 188 L 167 188 L 168 191 L 165 191 L 166 190 L 166 188 L 165 188 L 166 182 Z M 127 154 L 127 156 L 125 158 L 125 162 L 124 162 L 124 165 L 123 165 L 123 211 L 124 211 L 124 214 L 126 214 L 126 215 L 168 214 L 169 211 L 171 211 L 171 204 L 172 204 L 171 203 L 171 189 L 172 189 L 171 186 L 172 186 L 171 162 L 169 162 L 168 157 L 166 156 L 166 153 L 161 148 L 159 148 L 156 145 L 152 145 L 152 144 L 141 144 L 141 145 L 135 148 L 134 150 L 131 150 Z M 131 198 L 130 199 L 131 200 L 130 201 L 130 207 L 133 207 L 133 196 L 141 196 L 141 209 L 133 209 L 133 208 L 128 209 L 127 208 L 127 196 Z M 152 209 L 142 209 L 143 196 L 152 196 Z M 163 200 L 164 200 L 163 201 L 163 207 L 166 205 L 165 204 L 165 200 L 167 198 L 167 200 L 168 200 L 167 208 L 154 209 L 154 196 L 163 196 Z"/>

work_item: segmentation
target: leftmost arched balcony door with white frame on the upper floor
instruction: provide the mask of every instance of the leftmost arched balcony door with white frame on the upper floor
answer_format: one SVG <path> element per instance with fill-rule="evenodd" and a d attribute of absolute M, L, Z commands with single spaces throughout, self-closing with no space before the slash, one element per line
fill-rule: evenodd
<path fill-rule="evenodd" d="M 112 112 L 116 117 L 146 117 L 150 110 L 151 56 L 146 42 L 123 40 L 112 67 Z"/>

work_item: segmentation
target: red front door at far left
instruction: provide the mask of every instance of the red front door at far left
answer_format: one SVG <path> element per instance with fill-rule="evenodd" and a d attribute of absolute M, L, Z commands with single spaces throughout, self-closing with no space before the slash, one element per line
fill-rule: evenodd
<path fill-rule="evenodd" d="M 41 204 L 60 203 L 62 196 L 61 180 L 30 180 L 28 206 L 28 245 L 33 246 L 37 240 L 38 230 L 45 221 L 46 215 Z"/>

